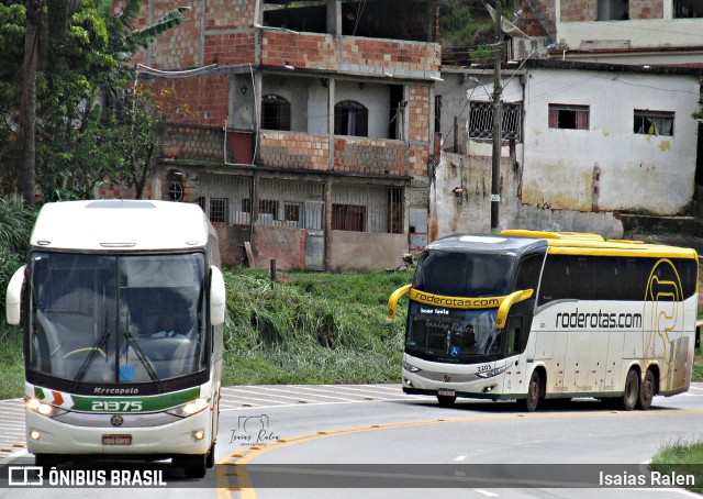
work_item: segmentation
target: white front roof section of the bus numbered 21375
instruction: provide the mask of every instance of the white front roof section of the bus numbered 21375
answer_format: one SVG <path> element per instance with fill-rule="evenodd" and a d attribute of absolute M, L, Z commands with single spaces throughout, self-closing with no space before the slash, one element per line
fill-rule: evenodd
<path fill-rule="evenodd" d="M 34 224 L 34 247 L 153 251 L 204 247 L 210 222 L 198 204 L 146 200 L 46 203 Z"/>

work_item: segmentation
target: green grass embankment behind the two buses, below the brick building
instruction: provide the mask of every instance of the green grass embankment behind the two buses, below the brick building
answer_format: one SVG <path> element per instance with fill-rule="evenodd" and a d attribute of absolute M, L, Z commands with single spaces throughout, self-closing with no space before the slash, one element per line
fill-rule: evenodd
<path fill-rule="evenodd" d="M 387 318 L 390 293 L 412 270 L 370 274 L 224 269 L 227 287 L 222 382 L 342 384 L 400 379 L 405 311 Z M 21 331 L 0 331 L 0 399 L 22 397 Z"/>

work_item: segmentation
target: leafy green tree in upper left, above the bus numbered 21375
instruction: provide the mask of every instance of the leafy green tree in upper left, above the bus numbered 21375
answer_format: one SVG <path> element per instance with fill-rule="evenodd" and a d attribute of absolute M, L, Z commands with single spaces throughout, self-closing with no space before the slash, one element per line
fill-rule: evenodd
<path fill-rule="evenodd" d="M 90 197 L 120 167 L 111 102 L 134 79 L 129 62 L 187 8 L 134 29 L 142 0 L 0 0 L 0 187 L 34 202 Z M 96 102 L 100 102 L 96 107 Z M 107 104 L 107 106 L 105 106 Z"/>

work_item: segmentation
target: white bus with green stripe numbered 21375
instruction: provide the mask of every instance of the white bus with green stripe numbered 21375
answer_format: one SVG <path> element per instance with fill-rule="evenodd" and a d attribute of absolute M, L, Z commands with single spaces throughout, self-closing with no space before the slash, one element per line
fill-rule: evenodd
<path fill-rule="evenodd" d="M 171 458 L 204 476 L 224 311 L 216 233 L 197 204 L 45 204 L 7 295 L 36 463 Z"/>

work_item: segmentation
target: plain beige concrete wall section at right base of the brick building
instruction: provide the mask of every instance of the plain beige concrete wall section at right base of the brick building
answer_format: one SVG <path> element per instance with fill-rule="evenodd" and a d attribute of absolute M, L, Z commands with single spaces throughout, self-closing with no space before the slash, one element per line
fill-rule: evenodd
<path fill-rule="evenodd" d="M 408 234 L 333 231 L 330 248 L 333 271 L 397 268 L 408 253 Z"/>

